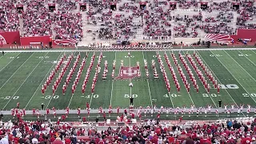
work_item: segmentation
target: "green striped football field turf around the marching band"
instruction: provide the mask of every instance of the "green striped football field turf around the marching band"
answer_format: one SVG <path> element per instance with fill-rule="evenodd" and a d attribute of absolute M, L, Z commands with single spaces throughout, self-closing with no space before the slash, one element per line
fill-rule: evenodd
<path fill-rule="evenodd" d="M 66 51 L 66 56 L 73 53 L 75 56 L 78 51 Z M 165 66 L 166 74 L 170 80 L 170 93 L 166 90 L 166 84 L 159 67 L 158 58 L 156 58 L 156 51 L 130 51 L 130 57 L 127 51 L 104 51 L 101 61 L 102 70 L 98 74 L 98 82 L 95 86 L 94 94 L 91 93 L 92 79 L 94 78 L 95 68 L 97 66 L 98 55 L 100 52 L 95 52 L 94 66 L 90 72 L 89 82 L 86 86 L 85 94 L 82 94 L 82 82 L 86 76 L 86 70 L 90 64 L 90 57 L 94 52 L 88 52 L 86 65 L 82 70 L 82 76 L 78 82 L 77 89 L 72 95 L 71 86 L 74 82 L 78 68 L 82 62 L 82 58 L 86 57 L 86 52 L 81 51 L 81 59 L 71 78 L 70 84 L 67 87 L 66 94 L 62 94 L 62 85 L 66 76 L 73 66 L 75 58 L 70 63 L 58 90 L 53 95 L 52 85 L 50 83 L 46 93 L 42 94 L 41 88 L 46 78 L 50 75 L 51 70 L 62 57 L 63 52 L 57 51 L 40 51 L 40 52 L 7 52 L 4 56 L 0 56 L 0 108 L 10 110 L 14 108 L 17 102 L 20 103 L 21 108 L 31 110 L 32 108 L 40 108 L 41 103 L 46 107 L 57 109 L 65 109 L 67 106 L 70 109 L 76 109 L 78 106 L 84 108 L 86 102 L 90 102 L 92 108 L 103 108 L 108 106 L 126 108 L 130 105 L 130 95 L 134 96 L 134 106 L 152 106 L 157 107 L 190 107 L 192 103 L 196 107 L 212 105 L 218 106 L 218 100 L 226 104 L 256 104 L 256 50 L 198 50 L 196 54 L 202 59 L 202 62 L 209 67 L 209 70 L 214 75 L 214 78 L 222 85 L 220 93 L 211 86 L 210 93 L 206 92 L 202 82 L 199 80 L 197 74 L 193 70 L 188 59 L 185 58 L 188 66 L 193 71 L 194 76 L 198 82 L 199 92 L 190 89 L 187 92 L 182 78 L 178 74 L 178 69 L 174 65 L 171 58 L 172 51 L 166 51 L 170 59 L 171 65 L 174 66 L 174 72 L 177 75 L 178 82 L 181 85 L 181 90 L 175 88 L 172 75 L 167 66 L 166 60 L 163 57 L 164 51 L 159 51 L 162 57 L 162 62 Z M 174 51 L 176 58 L 178 58 L 178 50 Z M 182 50 L 181 54 L 193 54 L 194 50 Z M 146 78 L 146 70 L 144 68 L 144 59 L 148 63 L 148 70 L 150 77 Z M 151 67 L 151 62 L 154 59 L 156 68 L 159 74 L 158 79 L 154 79 L 154 70 Z M 121 60 L 124 66 L 137 66 L 140 64 L 141 78 L 133 78 L 131 82 L 133 87 L 130 87 L 129 79 L 114 79 L 111 76 L 113 70 L 112 63 L 116 61 L 116 69 L 114 77 L 118 77 Z M 104 62 L 108 63 L 108 73 L 106 80 L 102 80 L 102 73 L 104 69 Z M 195 60 L 194 60 L 195 61 Z M 195 61 L 196 62 L 196 61 Z M 182 66 L 182 62 L 178 58 L 178 63 Z M 63 65 L 62 65 L 63 66 Z M 186 69 L 182 66 L 183 72 L 188 78 L 188 82 L 192 87 Z M 201 69 L 201 67 L 199 68 Z M 58 76 L 60 70 L 55 74 L 54 80 Z M 152 101 L 153 100 L 153 101 Z"/>

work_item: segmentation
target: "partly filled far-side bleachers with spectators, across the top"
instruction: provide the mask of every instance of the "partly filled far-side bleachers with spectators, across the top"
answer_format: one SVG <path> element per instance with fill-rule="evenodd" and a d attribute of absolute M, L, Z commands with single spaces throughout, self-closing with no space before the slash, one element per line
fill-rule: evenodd
<path fill-rule="evenodd" d="M 256 23 L 253 0 L 209 1 L 206 6 L 194 0 L 175 0 L 175 10 L 166 0 L 149 1 L 146 7 L 140 6 L 139 2 L 122 0 L 88 1 L 88 10 L 86 7 L 78 8 L 81 2 L 3 1 L 0 4 L 0 30 L 21 30 L 22 36 L 53 35 L 58 39 L 84 38 L 86 34 L 86 38 L 99 40 L 138 38 L 166 41 L 172 38 L 201 38 L 204 34 L 235 34 L 240 28 L 254 29 Z M 48 3 L 56 3 L 56 9 L 49 10 Z M 18 14 L 16 4 L 24 5 L 22 14 Z M 187 10 L 191 10 L 191 14 Z"/>

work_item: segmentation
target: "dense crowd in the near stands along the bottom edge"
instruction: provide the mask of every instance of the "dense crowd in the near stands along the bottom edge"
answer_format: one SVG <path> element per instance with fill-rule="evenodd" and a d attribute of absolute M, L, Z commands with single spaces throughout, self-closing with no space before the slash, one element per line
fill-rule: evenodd
<path fill-rule="evenodd" d="M 53 144 L 250 144 L 256 142 L 256 120 L 227 120 L 212 124 L 174 122 L 166 125 L 154 119 L 124 126 L 72 126 L 69 122 L 1 122 L 0 143 Z"/>

